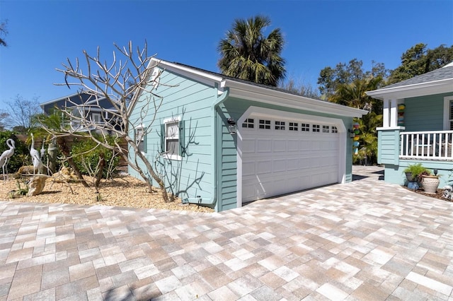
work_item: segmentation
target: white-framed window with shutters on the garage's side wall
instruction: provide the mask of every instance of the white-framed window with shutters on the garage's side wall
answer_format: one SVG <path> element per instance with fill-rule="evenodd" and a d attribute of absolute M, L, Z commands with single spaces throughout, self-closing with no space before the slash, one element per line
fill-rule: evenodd
<path fill-rule="evenodd" d="M 171 160 L 182 160 L 185 153 L 183 122 L 179 117 L 164 120 L 161 125 L 161 148 Z"/>

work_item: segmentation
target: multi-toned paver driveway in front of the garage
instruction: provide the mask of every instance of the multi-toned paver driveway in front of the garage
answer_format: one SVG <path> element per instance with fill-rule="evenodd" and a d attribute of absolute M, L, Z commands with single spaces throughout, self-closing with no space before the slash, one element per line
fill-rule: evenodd
<path fill-rule="evenodd" d="M 0 300 L 452 300 L 453 202 L 354 173 L 214 214 L 0 202 Z"/>

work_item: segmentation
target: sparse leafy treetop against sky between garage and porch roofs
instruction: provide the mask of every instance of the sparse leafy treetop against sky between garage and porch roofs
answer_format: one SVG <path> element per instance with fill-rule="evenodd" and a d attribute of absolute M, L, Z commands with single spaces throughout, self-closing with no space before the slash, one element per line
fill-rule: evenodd
<path fill-rule="evenodd" d="M 335 68 L 327 66 L 319 73 L 318 85 L 323 98 L 329 100 L 338 89 L 339 85 L 350 84 L 365 78 L 386 78 L 389 70 L 384 64 L 372 61 L 370 71 L 363 70 L 363 61 L 352 59 L 348 64 L 338 63 Z M 379 87 L 378 87 L 379 88 Z"/>

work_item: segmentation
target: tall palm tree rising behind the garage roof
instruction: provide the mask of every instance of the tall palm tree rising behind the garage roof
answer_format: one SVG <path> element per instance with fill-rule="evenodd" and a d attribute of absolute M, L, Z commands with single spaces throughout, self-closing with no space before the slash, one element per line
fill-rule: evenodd
<path fill-rule="evenodd" d="M 222 74 L 273 86 L 285 78 L 285 59 L 280 56 L 285 40 L 280 28 L 265 37 L 263 30 L 269 25 L 265 16 L 234 20 L 217 47 Z"/>

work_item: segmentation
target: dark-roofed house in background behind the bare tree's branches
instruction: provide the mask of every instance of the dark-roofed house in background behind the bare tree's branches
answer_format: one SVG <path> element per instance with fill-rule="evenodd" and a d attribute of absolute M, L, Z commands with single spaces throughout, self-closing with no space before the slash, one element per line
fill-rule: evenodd
<path fill-rule="evenodd" d="M 75 93 L 55 100 L 40 104 L 45 114 L 51 114 L 53 110 L 67 110 L 72 116 L 81 117 L 87 120 L 88 124 L 103 124 L 114 120 L 113 112 L 116 109 L 106 98 L 94 98 L 86 92 Z M 77 131 L 88 131 L 93 126 L 84 126 L 75 119 L 68 121 L 71 128 Z"/>

